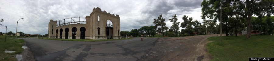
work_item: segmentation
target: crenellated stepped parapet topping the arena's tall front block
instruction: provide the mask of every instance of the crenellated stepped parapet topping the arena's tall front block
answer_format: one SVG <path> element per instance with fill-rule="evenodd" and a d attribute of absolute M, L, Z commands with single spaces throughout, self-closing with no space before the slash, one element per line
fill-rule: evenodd
<path fill-rule="evenodd" d="M 101 11 L 101 8 L 98 8 L 98 7 L 97 8 L 93 8 L 93 11 L 90 13 L 90 16 L 93 15 L 95 12 L 101 13 L 101 14 L 105 14 L 105 15 L 113 17 L 113 18 L 120 19 L 120 17 L 119 17 L 118 14 L 116 14 L 116 16 L 115 16 L 114 14 L 110 14 L 109 12 L 107 13 L 106 11 Z M 86 17 L 88 17 L 88 16 L 86 16 Z"/>

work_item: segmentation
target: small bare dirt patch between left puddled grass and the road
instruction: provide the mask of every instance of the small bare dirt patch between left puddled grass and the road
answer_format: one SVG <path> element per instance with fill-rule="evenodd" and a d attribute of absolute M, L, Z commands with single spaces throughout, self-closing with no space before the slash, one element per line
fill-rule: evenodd
<path fill-rule="evenodd" d="M 26 47 L 26 43 L 24 44 L 24 46 Z M 23 61 L 36 61 L 35 57 L 33 56 L 33 53 L 30 51 L 30 48 L 27 47 L 23 53 Z"/>

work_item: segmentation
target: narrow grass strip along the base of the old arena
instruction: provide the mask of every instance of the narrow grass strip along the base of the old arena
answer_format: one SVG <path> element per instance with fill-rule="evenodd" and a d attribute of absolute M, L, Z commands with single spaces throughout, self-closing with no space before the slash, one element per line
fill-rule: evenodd
<path fill-rule="evenodd" d="M 107 40 L 90 40 L 90 39 L 57 39 L 57 38 L 46 38 L 46 37 L 39 37 L 40 39 L 46 39 L 46 40 L 62 40 L 62 41 L 111 41 L 111 40 L 124 40 L 124 38 L 121 39 L 107 39 Z M 132 38 L 128 38 L 132 39 Z"/>

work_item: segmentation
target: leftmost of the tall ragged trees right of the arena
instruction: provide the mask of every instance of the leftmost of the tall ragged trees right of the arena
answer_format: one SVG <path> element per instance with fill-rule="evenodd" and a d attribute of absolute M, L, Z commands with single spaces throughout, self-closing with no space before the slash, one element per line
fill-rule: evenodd
<path fill-rule="evenodd" d="M 166 26 L 165 19 L 162 17 L 162 14 L 159 15 L 158 19 L 154 19 L 153 24 L 155 24 L 155 27 L 158 27 L 158 32 L 163 34 L 163 31 L 167 31 L 168 27 Z"/>

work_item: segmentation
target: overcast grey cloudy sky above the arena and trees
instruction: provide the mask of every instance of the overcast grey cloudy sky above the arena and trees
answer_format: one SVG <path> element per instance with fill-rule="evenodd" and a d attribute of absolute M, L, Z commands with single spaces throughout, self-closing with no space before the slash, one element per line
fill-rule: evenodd
<path fill-rule="evenodd" d="M 121 31 L 131 31 L 142 26 L 151 26 L 153 19 L 160 14 L 166 19 L 167 27 L 172 23 L 169 18 L 177 14 L 179 22 L 182 16 L 187 15 L 193 20 L 202 22 L 201 19 L 202 0 L 0 0 L 0 32 L 16 32 L 16 21 L 18 21 L 18 32 L 26 34 L 47 34 L 50 19 L 62 20 L 71 17 L 85 17 L 89 15 L 94 7 L 102 11 L 118 14 L 120 16 Z M 77 20 L 77 19 L 76 19 Z M 85 18 L 81 18 L 85 21 Z"/>

